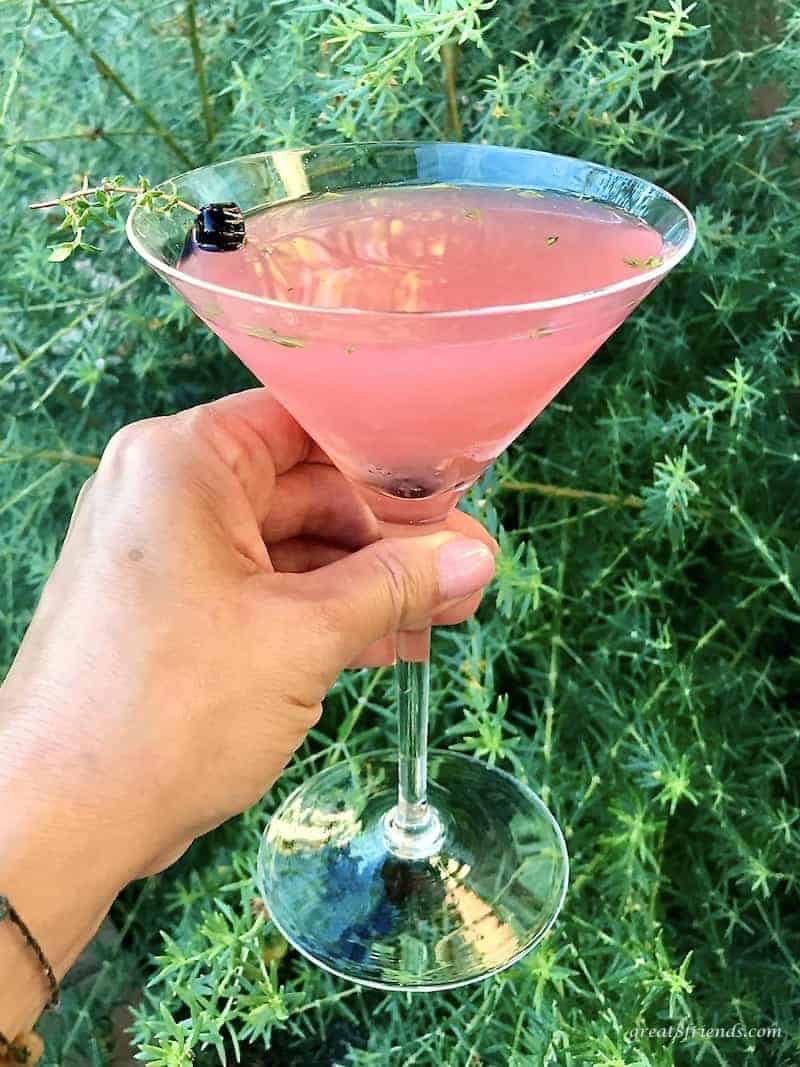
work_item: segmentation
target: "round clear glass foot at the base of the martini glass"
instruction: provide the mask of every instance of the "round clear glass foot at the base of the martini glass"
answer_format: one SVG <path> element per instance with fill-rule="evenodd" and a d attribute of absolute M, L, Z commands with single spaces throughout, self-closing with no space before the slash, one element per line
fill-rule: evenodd
<path fill-rule="evenodd" d="M 258 878 L 275 925 L 334 974 L 383 989 L 466 985 L 542 940 L 569 860 L 539 797 L 505 771 L 431 752 L 433 850 L 397 855 L 397 753 L 336 764 L 275 812 Z M 402 853 L 402 848 L 400 851 Z"/>

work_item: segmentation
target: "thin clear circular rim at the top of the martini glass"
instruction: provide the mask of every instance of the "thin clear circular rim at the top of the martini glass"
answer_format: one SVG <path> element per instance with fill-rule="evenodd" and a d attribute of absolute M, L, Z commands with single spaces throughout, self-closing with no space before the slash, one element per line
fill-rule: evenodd
<path fill-rule="evenodd" d="M 299 156 L 302 157 L 311 152 L 321 152 L 325 149 L 357 149 L 357 148 L 369 148 L 369 147 L 398 147 L 398 148 L 421 148 L 429 145 L 437 145 L 439 147 L 452 147 L 459 148 L 463 152 L 482 152 L 485 148 L 491 148 L 493 152 L 509 152 L 509 153 L 526 153 L 530 156 L 545 156 L 553 160 L 563 160 L 565 163 L 582 163 L 583 165 L 590 165 L 596 168 L 598 171 L 605 171 L 608 174 L 619 175 L 623 178 L 633 179 L 638 182 L 643 189 L 653 190 L 662 200 L 669 201 L 673 204 L 677 210 L 683 214 L 687 222 L 687 234 L 684 241 L 676 246 L 676 251 L 672 256 L 665 257 L 661 264 L 657 267 L 650 268 L 649 270 L 642 271 L 639 274 L 634 274 L 630 277 L 623 278 L 620 282 L 614 282 L 611 285 L 601 286 L 597 289 L 586 289 L 581 292 L 567 293 L 564 297 L 553 297 L 548 300 L 532 300 L 524 301 L 522 303 L 514 304 L 487 304 L 482 307 L 462 307 L 462 308 L 448 308 L 447 310 L 435 310 L 435 312 L 402 312 L 402 310 L 379 310 L 377 308 L 365 308 L 365 307 L 320 307 L 315 304 L 297 304 L 290 303 L 289 301 L 283 300 L 272 300 L 269 297 L 259 297 L 252 292 L 242 292 L 240 289 L 229 289 L 226 286 L 218 285 L 214 282 L 206 282 L 202 278 L 194 277 L 192 274 L 188 274 L 185 271 L 178 270 L 177 267 L 170 267 L 165 264 L 163 259 L 155 255 L 146 246 L 145 242 L 140 239 L 139 235 L 134 230 L 134 219 L 139 211 L 144 211 L 145 208 L 141 204 L 134 204 L 131 208 L 128 220 L 125 225 L 125 232 L 128 237 L 128 241 L 132 245 L 133 250 L 141 256 L 142 259 L 157 273 L 166 275 L 166 277 L 172 278 L 175 282 L 182 283 L 183 285 L 193 286 L 198 289 L 205 289 L 207 292 L 212 292 L 223 297 L 231 297 L 237 300 L 244 300 L 249 303 L 255 304 L 257 306 L 270 307 L 279 312 L 291 312 L 291 313 L 314 313 L 317 315 L 342 315 L 342 316 L 365 316 L 365 317 L 378 317 L 378 318 L 402 318 L 402 319 L 455 319 L 455 318 L 471 318 L 479 317 L 482 315 L 509 315 L 518 312 L 539 312 L 539 310 L 550 310 L 554 308 L 569 307 L 573 304 L 585 303 L 589 300 L 596 300 L 599 297 L 610 296 L 617 292 L 624 292 L 627 289 L 633 289 L 642 284 L 649 282 L 657 282 L 660 277 L 667 274 L 673 267 L 676 267 L 681 260 L 688 255 L 694 245 L 694 239 L 697 237 L 697 225 L 691 211 L 681 203 L 681 201 L 673 196 L 672 193 L 657 186 L 653 181 L 649 181 L 646 178 L 641 178 L 637 174 L 631 174 L 629 171 L 621 171 L 618 168 L 607 166 L 605 163 L 595 163 L 593 160 L 580 159 L 577 156 L 562 156 L 558 153 L 551 152 L 541 152 L 538 148 L 518 148 L 508 145 L 491 145 L 491 144 L 471 144 L 464 143 L 460 141 L 337 141 L 337 142 L 323 142 L 319 145 L 306 145 L 299 148 L 272 148 L 267 152 L 254 152 L 249 153 L 244 156 L 234 156 L 230 159 L 223 159 L 215 163 L 207 163 L 204 166 L 195 166 L 190 171 L 182 171 L 180 174 L 176 174 L 172 178 L 167 178 L 156 187 L 158 190 L 163 190 L 169 192 L 169 187 L 179 181 L 181 178 L 187 177 L 190 174 L 198 174 L 201 171 L 212 171 L 218 168 L 230 166 L 235 163 L 244 163 L 251 160 L 263 159 L 268 156 Z M 394 184 L 398 187 L 403 185 L 409 185 L 409 182 L 396 182 Z M 435 182 L 434 182 L 435 185 Z M 468 182 L 464 182 L 468 185 Z M 479 185 L 479 182 L 476 182 Z M 385 188 L 391 188 L 393 182 L 387 182 Z M 521 187 L 525 188 L 525 187 Z M 291 203 L 293 197 L 289 197 L 281 203 Z M 603 203 L 602 201 L 596 201 L 595 203 Z"/>

